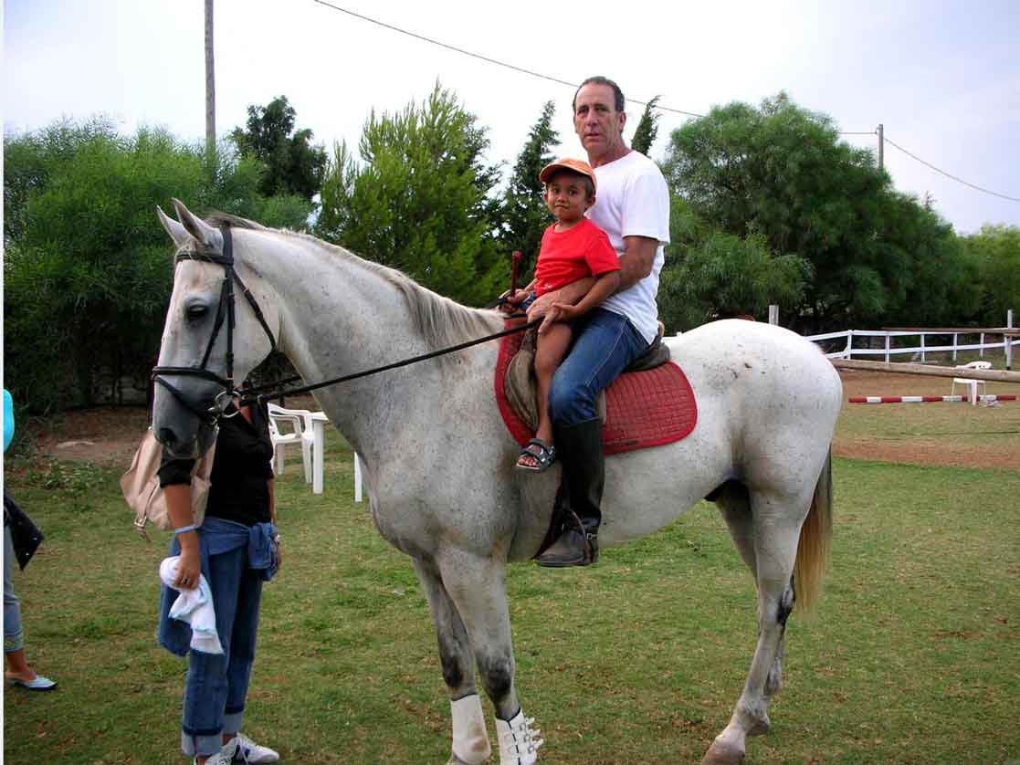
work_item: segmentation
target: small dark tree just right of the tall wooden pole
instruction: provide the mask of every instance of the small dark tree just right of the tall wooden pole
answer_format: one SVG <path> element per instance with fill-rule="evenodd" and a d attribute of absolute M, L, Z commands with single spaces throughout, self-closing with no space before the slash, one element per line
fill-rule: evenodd
<path fill-rule="evenodd" d="M 246 129 L 231 134 L 242 155 L 268 168 L 259 186 L 265 197 L 297 194 L 311 201 L 322 185 L 325 149 L 311 143 L 310 130 L 294 132 L 296 114 L 287 96 L 277 96 L 267 106 L 249 106 Z"/>

